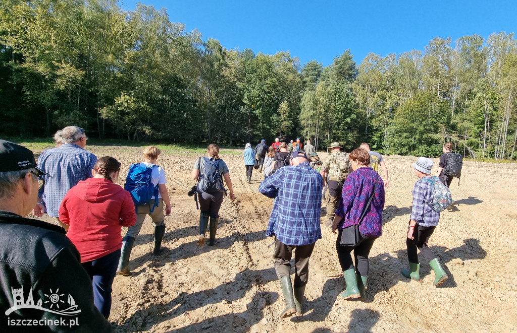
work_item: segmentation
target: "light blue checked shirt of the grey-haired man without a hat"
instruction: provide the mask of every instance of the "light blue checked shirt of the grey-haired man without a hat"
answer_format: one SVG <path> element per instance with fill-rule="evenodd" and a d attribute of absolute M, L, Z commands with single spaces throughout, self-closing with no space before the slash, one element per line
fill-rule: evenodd
<path fill-rule="evenodd" d="M 97 157 L 75 144 L 64 144 L 43 151 L 38 158 L 38 168 L 52 177 L 45 176 L 45 185 L 38 193 L 47 213 L 57 218 L 59 205 L 66 192 L 81 180 L 92 177 Z"/>

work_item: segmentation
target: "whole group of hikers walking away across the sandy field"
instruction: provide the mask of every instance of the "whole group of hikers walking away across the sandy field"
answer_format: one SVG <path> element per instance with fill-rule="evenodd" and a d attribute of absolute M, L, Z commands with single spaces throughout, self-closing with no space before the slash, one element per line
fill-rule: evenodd
<path fill-rule="evenodd" d="M 171 214 L 171 202 L 165 172 L 157 165 L 159 148 L 143 149 L 143 161 L 129 166 L 122 188 L 116 185 L 120 163 L 109 156 L 97 159 L 85 149 L 87 139 L 84 129 L 65 127 L 56 133 L 56 147 L 43 151 L 37 163 L 29 149 L 0 140 L 4 161 L 0 166 L 0 304 L 14 306 L 9 295 L 15 286 L 34 289 L 42 299 L 49 289 L 59 288 L 73 292 L 81 309 L 79 321 L 87 330 L 110 331 L 107 319 L 114 277 L 131 274 L 131 249 L 147 215 L 154 226 L 153 255 L 161 253 L 164 215 Z M 322 205 L 326 206 L 324 223 L 338 235 L 336 250 L 346 282 L 340 296 L 365 297 L 368 255 L 381 236 L 388 171 L 382 156 L 366 143 L 348 155 L 341 152 L 338 142 L 328 148 L 330 153 L 323 161 L 310 141 L 303 146 L 299 138 L 289 144 L 277 138 L 270 146 L 262 140 L 255 149 L 248 143 L 244 151 L 247 181 L 257 168 L 264 175 L 258 191 L 274 198 L 266 236 L 275 237 L 273 257 L 285 298 L 282 318 L 303 313 L 309 258 L 316 240 L 322 238 Z M 444 153 L 450 149 L 444 145 Z M 451 175 L 448 161 L 444 159 L 442 166 L 440 158 L 439 169 L 447 191 L 450 181 L 446 177 Z M 379 166 L 384 181 L 377 173 Z M 409 269 L 402 274 L 420 280 L 418 248 L 429 261 L 435 273 L 434 285 L 438 286 L 447 274 L 427 243 L 444 204 L 436 201 L 436 189 L 443 188 L 437 186 L 438 178 L 431 177 L 432 166 L 424 157 L 413 164 L 419 180 L 413 189 L 406 239 Z M 227 195 L 224 183 L 230 199 L 235 199 L 229 168 L 219 157 L 216 144 L 208 145 L 207 156 L 195 161 L 191 177 L 196 185 L 189 195 L 195 195 L 200 208 L 197 246 L 205 245 L 207 228 L 208 245 L 214 246 L 219 210 Z M 29 212 L 41 217 L 45 211 L 55 225 L 25 218 Z M 128 227 L 124 237 L 123 226 Z M 294 288 L 290 277 L 293 252 Z M 22 312 L 16 315 L 24 317 Z M 45 318 L 52 316 L 59 318 L 45 314 Z"/>

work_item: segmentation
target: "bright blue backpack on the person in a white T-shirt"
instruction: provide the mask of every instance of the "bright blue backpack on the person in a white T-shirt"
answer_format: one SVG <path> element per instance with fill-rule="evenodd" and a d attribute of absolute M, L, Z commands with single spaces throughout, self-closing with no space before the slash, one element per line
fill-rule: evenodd
<path fill-rule="evenodd" d="M 153 207 L 149 207 L 151 213 L 158 207 L 158 185 L 153 185 L 151 176 L 154 168 L 158 168 L 158 165 L 131 164 L 124 183 L 124 189 L 131 194 L 135 207 L 147 204 L 153 196 L 156 198 Z"/>

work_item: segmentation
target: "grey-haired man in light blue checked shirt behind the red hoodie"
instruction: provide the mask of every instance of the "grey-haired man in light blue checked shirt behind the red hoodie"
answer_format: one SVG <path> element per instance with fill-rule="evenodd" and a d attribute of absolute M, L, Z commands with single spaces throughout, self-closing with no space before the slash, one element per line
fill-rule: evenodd
<path fill-rule="evenodd" d="M 84 149 L 88 137 L 81 127 L 63 128 L 61 138 L 65 142 L 63 145 L 43 151 L 38 158 L 38 168 L 50 173 L 52 178 L 45 177 L 45 185 L 38 193 L 38 202 L 33 213 L 41 217 L 46 206 L 47 213 L 54 218 L 54 222 L 68 230 L 68 225 L 59 222 L 59 205 L 68 190 L 79 181 L 92 177 L 97 157 Z"/>

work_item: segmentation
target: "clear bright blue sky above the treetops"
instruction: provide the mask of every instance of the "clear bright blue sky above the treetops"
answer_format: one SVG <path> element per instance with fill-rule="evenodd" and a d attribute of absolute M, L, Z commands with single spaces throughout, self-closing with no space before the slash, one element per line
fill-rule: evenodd
<path fill-rule="evenodd" d="M 121 4 L 133 9 L 138 1 Z M 515 32 L 517 1 L 224 1 L 143 0 L 165 7 L 171 22 L 197 29 L 203 40 L 228 49 L 275 54 L 290 51 L 300 62 L 330 64 L 347 48 L 357 63 L 370 52 L 385 56 L 421 49 L 434 37 L 456 40 Z"/>

